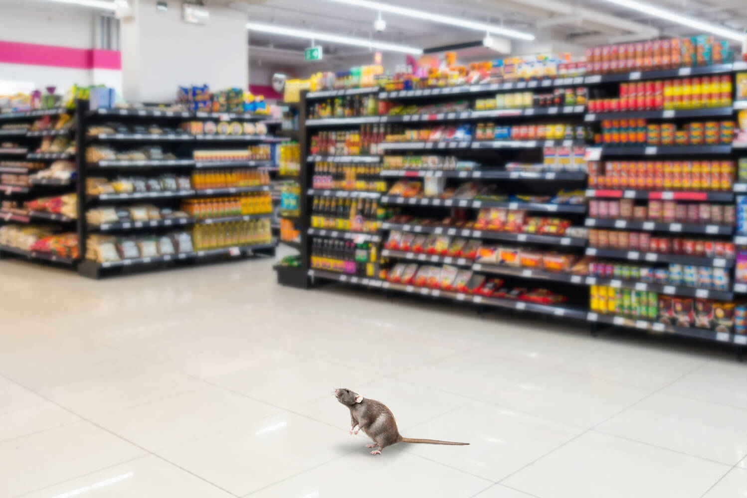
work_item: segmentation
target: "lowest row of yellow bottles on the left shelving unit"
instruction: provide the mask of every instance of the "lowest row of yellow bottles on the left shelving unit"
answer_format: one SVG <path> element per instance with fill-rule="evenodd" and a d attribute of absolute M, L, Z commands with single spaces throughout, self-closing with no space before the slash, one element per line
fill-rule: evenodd
<path fill-rule="evenodd" d="M 269 218 L 197 224 L 192 228 L 192 242 L 195 250 L 261 245 L 269 244 L 271 241 L 272 229 Z"/>

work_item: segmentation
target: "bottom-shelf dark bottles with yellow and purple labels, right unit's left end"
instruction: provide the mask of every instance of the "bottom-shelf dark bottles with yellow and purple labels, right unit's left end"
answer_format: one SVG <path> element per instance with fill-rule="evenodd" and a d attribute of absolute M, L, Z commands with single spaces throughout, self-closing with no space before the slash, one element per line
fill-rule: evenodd
<path fill-rule="evenodd" d="M 311 239 L 311 268 L 373 277 L 376 245 L 352 240 Z"/>

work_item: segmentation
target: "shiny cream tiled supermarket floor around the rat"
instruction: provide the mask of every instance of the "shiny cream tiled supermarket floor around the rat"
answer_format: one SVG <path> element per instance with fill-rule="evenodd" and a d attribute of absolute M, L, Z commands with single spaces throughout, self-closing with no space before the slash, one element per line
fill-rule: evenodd
<path fill-rule="evenodd" d="M 747 365 L 552 320 L 0 262 L 0 497 L 747 496 Z M 330 394 L 393 410 L 380 456 Z"/>

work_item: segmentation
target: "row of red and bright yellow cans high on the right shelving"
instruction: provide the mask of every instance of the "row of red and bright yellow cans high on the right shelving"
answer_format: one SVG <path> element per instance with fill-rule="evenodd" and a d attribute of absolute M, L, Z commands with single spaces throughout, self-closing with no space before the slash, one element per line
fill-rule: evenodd
<path fill-rule="evenodd" d="M 589 113 L 731 106 L 731 75 L 619 83 L 619 97 L 592 98 Z"/>

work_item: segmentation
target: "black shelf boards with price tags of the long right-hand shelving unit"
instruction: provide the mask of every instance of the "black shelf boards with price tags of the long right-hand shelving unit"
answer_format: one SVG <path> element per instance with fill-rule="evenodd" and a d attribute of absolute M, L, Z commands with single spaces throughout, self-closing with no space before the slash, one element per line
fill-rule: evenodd
<path fill-rule="evenodd" d="M 695 75 L 719 75 L 728 74 L 736 70 L 747 70 L 747 65 L 743 63 L 721 64 L 717 66 L 704 67 L 685 67 L 676 69 L 666 69 L 649 72 L 626 72 L 613 75 L 588 75 L 585 77 L 574 78 L 552 78 L 540 81 L 510 81 L 505 83 L 482 83 L 477 85 L 432 88 L 432 89 L 402 89 L 394 91 L 383 91 L 378 88 L 365 89 L 343 89 L 331 90 L 324 92 L 309 92 L 302 96 L 300 109 L 306 113 L 309 105 L 318 99 L 334 98 L 344 95 L 356 95 L 365 93 L 374 93 L 379 99 L 391 99 L 396 101 L 418 101 L 434 102 L 447 101 L 449 98 L 471 98 L 479 95 L 493 94 L 495 92 L 512 91 L 516 89 L 553 89 L 565 86 L 590 86 L 604 87 L 608 83 L 619 83 L 624 81 L 645 81 L 660 78 L 678 78 Z M 608 85 L 612 86 L 612 85 Z M 647 110 L 647 111 L 626 111 L 621 113 L 586 113 L 582 107 L 551 107 L 551 108 L 529 108 L 519 110 L 489 110 L 489 111 L 462 111 L 456 113 L 436 113 L 436 114 L 413 114 L 404 116 L 360 116 L 354 118 L 331 118 L 331 119 L 314 119 L 300 123 L 301 135 L 305 138 L 317 133 L 319 130 L 346 130 L 359 127 L 361 124 L 412 124 L 413 127 L 428 124 L 448 124 L 455 122 L 477 122 L 478 120 L 489 120 L 498 124 L 515 124 L 517 119 L 535 118 L 552 119 L 555 122 L 571 122 L 575 124 L 586 124 L 592 127 L 598 126 L 601 121 L 606 119 L 666 119 L 669 121 L 684 122 L 695 120 L 716 120 L 728 119 L 734 116 L 734 112 L 747 108 L 744 101 L 735 101 L 728 107 L 711 107 L 706 109 L 684 109 L 684 110 Z M 482 160 L 483 166 L 474 170 L 452 170 L 443 171 L 434 168 L 425 168 L 423 170 L 414 169 L 385 169 L 380 176 L 385 180 L 400 180 L 412 177 L 414 180 L 424 177 L 443 177 L 447 182 L 477 181 L 480 183 L 498 183 L 509 190 L 510 193 L 521 192 L 543 192 L 542 184 L 546 186 L 557 186 L 562 182 L 564 186 L 583 186 L 586 188 L 586 174 L 568 172 L 568 171 L 505 171 L 500 165 L 507 162 L 507 158 L 513 157 L 512 154 L 536 154 L 541 148 L 545 147 L 586 147 L 594 157 L 598 154 L 601 160 L 732 160 L 739 157 L 739 150 L 731 145 L 692 145 L 692 146 L 651 146 L 651 147 L 612 147 L 608 145 L 593 145 L 580 140 L 450 140 L 441 142 L 391 142 L 379 144 L 380 155 L 397 155 L 397 154 L 449 154 L 456 157 L 465 157 L 470 160 Z M 595 150 L 596 149 L 596 150 Z M 306 154 L 303 154 L 306 152 Z M 307 181 L 310 179 L 314 161 L 320 162 L 339 162 L 339 163 L 377 163 L 379 156 L 320 156 L 309 154 L 309 148 L 306 143 L 302 145 L 302 155 L 305 155 L 301 177 Z M 487 160 L 486 160 L 487 158 Z M 485 166 L 488 165 L 488 166 Z M 505 180 L 513 180 L 506 182 Z M 309 209 L 311 200 L 315 195 L 354 197 L 353 192 L 336 192 L 332 189 L 304 189 L 308 197 L 303 204 L 305 210 L 302 212 L 301 219 L 306 218 L 308 222 Z M 636 190 L 636 189 L 597 189 L 586 188 L 586 198 L 599 199 L 633 199 L 633 200 L 660 200 L 660 201 L 684 201 L 684 202 L 709 202 L 712 204 L 734 204 L 735 194 L 747 192 L 747 183 L 737 183 L 734 185 L 733 192 L 681 192 L 681 191 L 661 191 L 661 190 Z M 367 194 L 373 197 L 373 194 Z M 379 194 L 376 194 L 379 196 Z M 552 215 L 571 217 L 574 219 L 574 225 L 588 228 L 601 228 L 609 230 L 636 230 L 648 232 L 655 236 L 694 236 L 708 237 L 716 240 L 733 241 L 737 245 L 747 246 L 747 236 L 736 235 L 735 229 L 727 224 L 688 224 L 679 222 L 662 222 L 648 220 L 632 219 L 606 219 L 592 218 L 586 216 L 586 205 L 564 205 L 550 203 L 523 203 L 495 200 L 477 199 L 455 199 L 455 198 L 428 198 L 428 197 L 405 197 L 397 195 L 388 195 L 383 193 L 379 197 L 379 202 L 383 205 L 402 209 L 403 212 L 416 212 L 417 216 L 430 218 L 442 218 L 450 209 L 474 210 L 486 207 L 502 207 L 506 209 L 526 209 L 527 211 L 536 212 L 541 215 L 552 213 Z M 468 219 L 471 219 L 468 217 Z M 368 289 L 380 289 L 384 291 L 397 291 L 417 296 L 438 297 L 445 300 L 453 300 L 456 303 L 474 303 L 483 307 L 495 307 L 499 309 L 515 309 L 527 312 L 539 312 L 565 318 L 573 318 L 584 321 L 597 330 L 600 326 L 613 326 L 645 330 L 647 332 L 662 335 L 679 335 L 684 337 L 700 338 L 707 341 L 735 344 L 744 347 L 747 345 L 747 337 L 735 335 L 733 333 L 715 332 L 713 330 L 704 330 L 692 327 L 675 327 L 668 324 L 660 324 L 655 321 L 641 319 L 631 319 L 622 316 L 602 315 L 589 310 L 588 302 L 586 303 L 564 303 L 562 306 L 545 306 L 523 301 L 508 300 L 495 297 L 484 297 L 479 295 L 463 294 L 453 291 L 444 291 L 441 289 L 427 289 L 418 286 L 407 286 L 398 283 L 391 283 L 379 280 L 376 277 L 361 277 L 350 274 L 338 274 L 332 271 L 320 270 L 319 268 L 310 268 L 309 251 L 310 239 L 312 236 L 349 238 L 354 239 L 360 236 L 355 233 L 348 233 L 344 230 L 320 230 L 306 226 L 306 234 L 309 236 L 301 244 L 301 252 L 305 274 L 313 281 L 334 281 L 347 285 L 362 286 Z M 539 236 L 524 233 L 503 233 L 491 232 L 489 230 L 475 230 L 474 228 L 438 226 L 433 224 L 419 224 L 415 221 L 411 223 L 392 223 L 385 221 L 382 224 L 379 233 L 376 235 L 366 234 L 365 240 L 368 241 L 385 241 L 389 230 L 403 230 L 412 233 L 443 233 L 445 235 L 460 236 L 469 239 L 481 239 L 486 242 L 505 241 L 512 245 L 555 245 L 558 248 L 566 246 L 563 250 L 576 250 L 578 253 L 595 258 L 604 258 L 606 260 L 617 260 L 619 262 L 639 262 L 643 265 L 657 266 L 667 265 L 670 262 L 681 265 L 707 265 L 713 268 L 725 268 L 731 278 L 734 277 L 734 259 L 731 256 L 686 256 L 684 254 L 666 254 L 654 253 L 638 250 L 616 250 L 601 249 L 588 246 L 588 241 L 581 238 L 558 237 L 558 236 Z M 364 239 L 359 239 L 364 240 Z M 568 286 L 568 289 L 575 294 L 582 294 L 586 300 L 586 295 L 590 286 L 608 286 L 619 289 L 628 289 L 631 291 L 649 291 L 658 294 L 669 295 L 674 297 L 694 297 L 710 300 L 734 300 L 735 294 L 747 294 L 747 283 L 735 283 L 730 289 L 706 289 L 704 287 L 691 287 L 684 285 L 666 285 L 663 283 L 651 283 L 642 281 L 622 280 L 616 278 L 591 277 L 589 275 L 571 274 L 568 272 L 545 271 L 537 268 L 515 268 L 508 265 L 484 264 L 475 262 L 467 258 L 453 256 L 438 256 L 426 253 L 417 253 L 405 250 L 390 250 L 379 248 L 379 256 L 388 259 L 398 259 L 411 262 L 423 262 L 428 264 L 450 264 L 462 268 L 471 268 L 475 272 L 486 275 L 495 275 L 501 278 L 512 279 L 516 283 L 526 282 L 524 285 L 530 285 L 534 282 L 545 282 L 549 286 Z M 553 287 L 553 288 L 554 288 Z M 579 288 L 584 289 L 579 292 Z M 560 287 L 559 289 L 562 289 Z"/>

